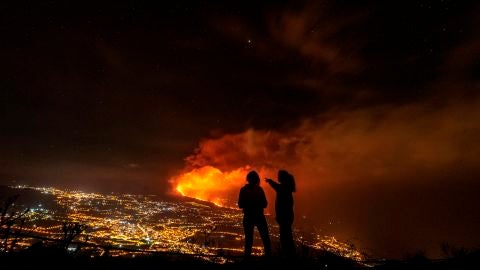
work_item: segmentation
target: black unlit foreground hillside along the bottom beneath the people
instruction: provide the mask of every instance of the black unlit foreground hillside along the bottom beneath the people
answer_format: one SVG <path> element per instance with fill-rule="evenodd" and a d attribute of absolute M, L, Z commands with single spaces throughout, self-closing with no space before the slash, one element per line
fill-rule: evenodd
<path fill-rule="evenodd" d="M 87 257 L 60 249 L 40 248 L 0 254 L 1 269 L 480 269 L 480 252 L 457 254 L 444 260 L 422 256 L 402 261 L 354 262 L 325 252 L 315 258 L 280 257 L 226 258 L 223 263 L 204 257 L 181 254 L 154 254 L 129 257 Z"/>

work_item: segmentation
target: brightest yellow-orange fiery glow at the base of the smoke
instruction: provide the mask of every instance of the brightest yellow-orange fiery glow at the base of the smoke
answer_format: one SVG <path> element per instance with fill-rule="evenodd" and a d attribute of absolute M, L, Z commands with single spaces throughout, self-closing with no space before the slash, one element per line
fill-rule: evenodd
<path fill-rule="evenodd" d="M 183 196 L 213 202 L 218 206 L 233 207 L 249 170 L 249 166 L 231 171 L 203 166 L 176 176 L 171 182 Z"/>

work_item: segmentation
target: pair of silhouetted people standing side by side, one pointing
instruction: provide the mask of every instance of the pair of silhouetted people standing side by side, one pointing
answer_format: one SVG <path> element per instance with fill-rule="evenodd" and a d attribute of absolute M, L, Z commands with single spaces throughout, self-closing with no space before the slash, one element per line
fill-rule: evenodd
<path fill-rule="evenodd" d="M 265 192 L 260 186 L 260 177 L 256 171 L 250 171 L 246 177 L 247 184 L 240 189 L 238 206 L 243 209 L 243 229 L 245 234 L 244 254 L 249 257 L 252 253 L 254 228 L 257 227 L 263 242 L 265 256 L 271 256 L 271 241 L 264 209 L 267 207 Z M 295 255 L 292 225 L 293 192 L 295 179 L 285 170 L 278 171 L 278 182 L 265 179 L 276 192 L 275 218 L 280 229 L 280 245 L 282 254 L 286 257 Z"/>

